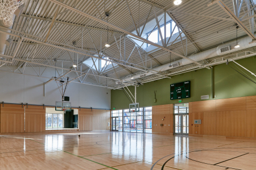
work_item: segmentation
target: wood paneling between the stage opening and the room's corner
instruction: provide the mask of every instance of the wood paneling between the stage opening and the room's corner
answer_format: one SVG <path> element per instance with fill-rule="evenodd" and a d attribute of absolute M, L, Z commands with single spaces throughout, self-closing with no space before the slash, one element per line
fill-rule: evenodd
<path fill-rule="evenodd" d="M 79 131 L 110 130 L 110 111 L 81 109 L 79 111 Z"/>

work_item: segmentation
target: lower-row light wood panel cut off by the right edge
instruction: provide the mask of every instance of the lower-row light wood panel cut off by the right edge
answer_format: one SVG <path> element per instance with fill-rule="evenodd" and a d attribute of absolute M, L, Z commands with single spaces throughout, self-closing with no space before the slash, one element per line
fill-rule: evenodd
<path fill-rule="evenodd" d="M 246 137 L 256 138 L 256 110 L 246 111 Z"/>

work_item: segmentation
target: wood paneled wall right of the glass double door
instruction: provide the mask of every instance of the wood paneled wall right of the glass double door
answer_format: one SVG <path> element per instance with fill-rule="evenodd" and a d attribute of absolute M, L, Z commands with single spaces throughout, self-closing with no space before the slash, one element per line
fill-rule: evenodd
<path fill-rule="evenodd" d="M 255 121 L 256 96 L 189 103 L 189 134 L 256 138 Z"/>

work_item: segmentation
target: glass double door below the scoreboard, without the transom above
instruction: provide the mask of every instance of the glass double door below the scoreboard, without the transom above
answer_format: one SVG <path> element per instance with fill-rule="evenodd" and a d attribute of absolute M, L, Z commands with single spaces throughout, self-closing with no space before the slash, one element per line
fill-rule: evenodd
<path fill-rule="evenodd" d="M 174 114 L 175 131 L 177 135 L 188 135 L 188 114 Z"/>

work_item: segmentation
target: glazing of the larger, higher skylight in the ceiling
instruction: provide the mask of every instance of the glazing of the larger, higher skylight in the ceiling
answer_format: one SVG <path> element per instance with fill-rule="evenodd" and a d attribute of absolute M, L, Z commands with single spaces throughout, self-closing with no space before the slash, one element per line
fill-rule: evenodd
<path fill-rule="evenodd" d="M 175 22 L 168 22 L 166 24 L 166 37 L 170 37 L 171 36 L 171 32 L 175 27 Z M 161 33 L 162 33 L 162 37 L 164 39 L 164 25 L 161 25 L 160 27 Z M 174 29 L 174 33 L 172 33 L 172 35 L 174 35 L 175 33 L 178 33 L 178 28 L 175 27 Z M 147 33 L 147 38 L 148 40 L 150 40 L 151 42 L 157 43 L 159 41 L 161 41 L 161 37 L 160 37 L 160 33 L 158 31 L 158 28 L 156 28 L 154 31 L 150 31 Z M 147 46 L 150 46 L 150 44 L 147 44 Z"/>

